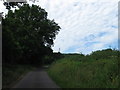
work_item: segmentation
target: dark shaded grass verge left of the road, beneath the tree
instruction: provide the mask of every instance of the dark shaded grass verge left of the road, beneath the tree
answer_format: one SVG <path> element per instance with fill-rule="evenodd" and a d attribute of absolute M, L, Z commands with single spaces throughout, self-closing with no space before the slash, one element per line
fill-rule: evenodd
<path fill-rule="evenodd" d="M 27 72 L 34 70 L 35 67 L 30 65 L 10 65 L 6 64 L 2 67 L 2 87 L 10 88 Z"/>

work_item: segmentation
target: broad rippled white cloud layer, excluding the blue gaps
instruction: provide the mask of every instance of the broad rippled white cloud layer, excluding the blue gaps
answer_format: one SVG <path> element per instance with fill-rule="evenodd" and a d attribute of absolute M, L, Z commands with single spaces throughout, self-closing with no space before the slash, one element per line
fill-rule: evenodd
<path fill-rule="evenodd" d="M 117 27 L 117 2 L 78 3 L 78 6 L 68 4 L 61 7 L 63 9 L 58 9 L 54 17 L 51 14 L 62 28 L 55 40 L 55 51 L 61 48 L 62 52 L 67 52 L 71 46 L 80 46 L 78 49 L 81 48 L 84 52 L 82 48 L 85 48 L 87 41 L 82 39 L 90 34 L 96 35 L 93 41 L 99 42 L 90 47 L 92 50 L 104 48 L 104 45 L 111 44 L 117 39 L 117 28 L 111 27 Z M 101 32 L 108 34 L 104 37 L 97 36 Z"/>

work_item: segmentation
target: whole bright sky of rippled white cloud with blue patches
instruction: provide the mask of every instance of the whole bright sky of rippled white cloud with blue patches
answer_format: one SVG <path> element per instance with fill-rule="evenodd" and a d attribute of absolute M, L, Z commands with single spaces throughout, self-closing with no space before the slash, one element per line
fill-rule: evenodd
<path fill-rule="evenodd" d="M 38 0 L 35 4 L 61 27 L 54 52 L 59 48 L 62 53 L 83 54 L 118 49 L 118 0 Z M 4 8 L 0 3 L 0 12 Z"/>

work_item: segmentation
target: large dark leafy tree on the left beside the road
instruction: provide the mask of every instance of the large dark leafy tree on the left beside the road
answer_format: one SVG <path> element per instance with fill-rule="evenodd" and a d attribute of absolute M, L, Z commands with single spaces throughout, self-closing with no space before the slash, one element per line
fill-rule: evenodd
<path fill-rule="evenodd" d="M 3 18 L 3 62 L 39 63 L 52 52 L 60 27 L 39 6 L 24 4 Z"/>

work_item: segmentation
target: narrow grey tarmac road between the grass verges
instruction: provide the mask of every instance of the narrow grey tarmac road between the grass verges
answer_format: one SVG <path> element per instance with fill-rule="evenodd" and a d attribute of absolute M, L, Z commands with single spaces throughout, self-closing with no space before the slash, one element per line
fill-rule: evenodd
<path fill-rule="evenodd" d="M 13 88 L 60 88 L 48 76 L 44 68 L 26 74 Z"/>

